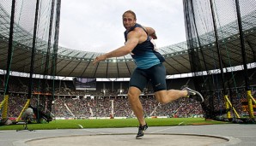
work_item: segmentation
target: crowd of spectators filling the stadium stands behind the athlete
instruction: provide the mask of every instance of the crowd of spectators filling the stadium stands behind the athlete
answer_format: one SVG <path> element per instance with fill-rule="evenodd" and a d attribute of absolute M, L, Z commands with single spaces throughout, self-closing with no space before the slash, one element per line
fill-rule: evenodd
<path fill-rule="evenodd" d="M 3 101 L 3 77 L 0 85 L 0 102 Z M 18 117 L 25 103 L 27 102 L 27 80 L 15 77 L 9 84 L 9 117 Z M 122 89 L 114 87 L 112 89 L 97 89 L 96 91 L 77 91 L 72 88 L 72 81 L 56 81 L 54 97 L 52 99 L 52 114 L 59 118 L 97 118 L 97 117 L 134 117 L 127 99 L 127 83 Z M 74 85 L 73 85 L 74 86 Z M 101 85 L 109 86 L 109 85 Z M 52 87 L 47 90 L 50 91 Z M 40 91 L 40 80 L 34 84 L 34 92 Z M 121 91 L 121 92 L 120 92 Z M 255 89 L 253 90 L 255 94 Z M 155 100 L 150 88 L 145 88 L 140 100 L 143 103 L 145 116 L 167 116 L 167 117 L 203 117 L 204 109 L 198 102 L 188 98 L 180 98 L 168 104 L 161 104 Z M 242 108 L 247 92 L 244 89 L 230 90 L 229 100 L 239 114 L 247 111 Z M 39 94 L 33 94 L 31 105 L 36 107 L 39 103 Z M 52 95 L 50 95 L 52 96 Z M 205 102 L 210 103 L 215 110 L 225 107 L 222 91 L 211 91 L 204 93 Z M 210 106 L 210 105 L 208 105 Z M 0 111 L 1 112 L 1 111 Z M 232 111 L 231 111 L 232 112 Z"/>

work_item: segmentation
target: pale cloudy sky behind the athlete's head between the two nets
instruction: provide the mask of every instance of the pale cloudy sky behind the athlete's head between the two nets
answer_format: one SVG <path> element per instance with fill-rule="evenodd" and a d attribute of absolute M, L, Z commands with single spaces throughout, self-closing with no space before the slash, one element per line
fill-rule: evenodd
<path fill-rule="evenodd" d="M 58 45 L 89 52 L 109 52 L 124 45 L 122 15 L 128 9 L 137 23 L 155 29 L 157 47 L 186 40 L 182 0 L 64 0 Z"/>

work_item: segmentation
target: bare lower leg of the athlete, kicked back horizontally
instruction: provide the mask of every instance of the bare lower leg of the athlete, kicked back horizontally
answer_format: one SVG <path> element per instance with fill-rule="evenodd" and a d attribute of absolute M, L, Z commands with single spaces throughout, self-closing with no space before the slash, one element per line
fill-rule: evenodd
<path fill-rule="evenodd" d="M 187 96 L 187 91 L 169 90 L 169 91 L 157 91 L 155 92 L 155 98 L 158 102 L 168 103 L 179 99 L 180 97 Z"/>

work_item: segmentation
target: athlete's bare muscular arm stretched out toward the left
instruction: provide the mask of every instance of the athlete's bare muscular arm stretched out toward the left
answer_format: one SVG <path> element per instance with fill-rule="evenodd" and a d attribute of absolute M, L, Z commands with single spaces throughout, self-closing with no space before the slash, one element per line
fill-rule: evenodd
<path fill-rule="evenodd" d="M 139 38 L 140 38 L 140 33 L 137 31 L 132 31 L 128 34 L 127 36 L 127 41 L 125 43 L 125 45 L 119 47 L 116 50 L 113 50 L 111 52 L 108 52 L 104 55 L 100 55 L 97 56 L 94 61 L 93 61 L 93 65 L 99 61 L 104 61 L 107 58 L 111 58 L 111 57 L 119 57 L 119 56 L 123 56 L 123 55 L 127 55 L 129 53 L 131 53 L 131 51 L 136 47 L 136 45 L 139 42 Z"/>

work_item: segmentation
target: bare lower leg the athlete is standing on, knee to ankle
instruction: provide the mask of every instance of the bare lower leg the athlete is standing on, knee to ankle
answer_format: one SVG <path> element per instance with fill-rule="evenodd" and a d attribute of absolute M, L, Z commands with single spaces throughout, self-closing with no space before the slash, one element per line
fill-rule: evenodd
<path fill-rule="evenodd" d="M 144 120 L 143 106 L 139 100 L 140 94 L 141 94 L 141 91 L 139 89 L 137 89 L 136 87 L 129 88 L 128 99 L 131 104 L 131 109 L 134 112 L 134 114 L 136 115 L 139 124 L 144 126 L 144 125 L 146 125 L 146 122 Z"/>

